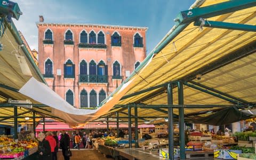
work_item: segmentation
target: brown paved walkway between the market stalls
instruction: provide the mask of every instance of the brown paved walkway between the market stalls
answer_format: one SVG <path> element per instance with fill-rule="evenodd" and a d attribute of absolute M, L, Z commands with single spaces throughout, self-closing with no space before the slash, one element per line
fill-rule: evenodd
<path fill-rule="evenodd" d="M 81 159 L 86 159 L 86 160 L 113 160 L 114 159 L 114 158 L 106 158 L 101 153 L 98 153 L 97 150 L 92 150 L 92 149 L 80 149 L 80 150 L 71 149 L 71 151 L 72 151 L 72 157 L 70 157 L 70 160 L 81 160 Z M 61 150 L 59 150 L 59 153 L 58 153 L 58 160 L 64 160 Z"/>

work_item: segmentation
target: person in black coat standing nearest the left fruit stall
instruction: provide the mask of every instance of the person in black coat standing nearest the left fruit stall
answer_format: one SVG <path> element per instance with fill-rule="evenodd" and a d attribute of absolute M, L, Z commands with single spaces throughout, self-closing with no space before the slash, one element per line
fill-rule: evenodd
<path fill-rule="evenodd" d="M 51 146 L 49 141 L 45 139 L 44 133 L 38 134 L 38 153 L 39 153 L 39 160 L 49 160 L 52 159 L 51 156 Z"/>

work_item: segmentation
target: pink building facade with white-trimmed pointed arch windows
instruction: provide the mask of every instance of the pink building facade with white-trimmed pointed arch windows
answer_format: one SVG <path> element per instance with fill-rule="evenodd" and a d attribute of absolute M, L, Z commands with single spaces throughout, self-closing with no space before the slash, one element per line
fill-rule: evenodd
<path fill-rule="evenodd" d="M 39 69 L 77 108 L 94 108 L 146 58 L 146 27 L 45 23 L 38 27 Z"/>

